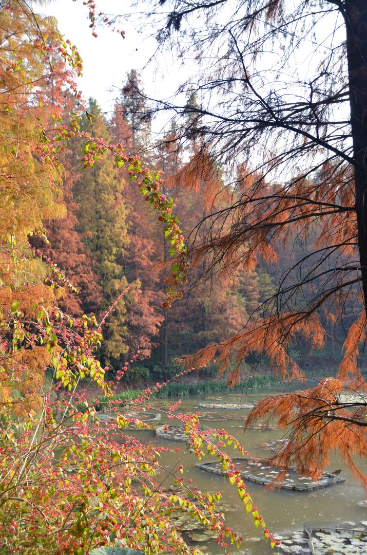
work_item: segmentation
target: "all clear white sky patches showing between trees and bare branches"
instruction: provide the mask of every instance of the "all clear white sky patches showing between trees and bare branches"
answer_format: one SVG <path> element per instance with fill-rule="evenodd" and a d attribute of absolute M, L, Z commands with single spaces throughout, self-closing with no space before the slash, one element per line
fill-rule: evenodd
<path fill-rule="evenodd" d="M 290 3 L 293 1 L 289 0 Z M 96 13 L 99 11 L 106 14 L 134 12 L 134 8 L 131 7 L 133 2 L 134 0 L 95 0 Z M 160 100 L 171 100 L 180 84 L 189 79 L 191 73 L 196 73 L 195 62 L 188 58 L 190 53 L 187 51 L 185 52 L 185 65 L 182 65 L 180 60 L 174 59 L 174 53 L 169 48 L 160 53 L 151 63 L 147 63 L 156 51 L 155 39 L 147 34 L 137 33 L 134 23 L 129 23 L 126 19 L 124 21 L 124 18 L 121 18 L 117 26 L 124 29 L 125 39 L 120 34 L 112 32 L 111 29 L 101 27 L 96 29 L 98 37 L 94 38 L 89 27 L 88 8 L 83 6 L 83 0 L 76 2 L 73 0 L 48 0 L 42 8 L 37 5 L 37 9 L 54 16 L 58 21 L 60 32 L 77 46 L 84 65 L 84 75 L 78 83 L 83 98 L 85 100 L 88 100 L 89 97 L 95 98 L 107 117 L 113 112 L 114 100 L 119 96 L 119 89 L 126 82 L 126 74 L 131 69 L 136 69 L 140 73 L 147 96 Z M 147 29 L 149 29 L 149 25 Z M 344 33 L 344 27 L 339 32 Z M 328 46 L 330 33 L 331 35 L 335 33 L 332 19 L 328 26 L 324 26 L 322 23 L 322 27 L 318 31 L 317 42 L 325 41 Z M 335 33 L 335 40 L 338 39 L 338 33 Z M 281 89 L 284 98 L 292 99 L 294 95 L 303 94 L 303 90 L 294 87 L 293 81 L 294 79 L 297 81 L 297 78 L 303 80 L 305 75 L 313 75 L 317 69 L 315 63 L 318 63 L 318 57 L 315 56 L 315 60 L 313 59 L 314 40 L 313 36 L 305 37 L 302 49 L 300 52 L 297 51 L 297 58 L 289 61 L 288 75 L 284 73 L 287 72 L 287 68 L 285 68 L 281 77 L 273 76 L 272 63 L 269 67 L 269 60 L 274 59 L 274 66 L 277 68 L 277 56 L 278 54 L 283 55 L 281 48 L 273 48 L 270 53 L 267 52 L 267 56 L 258 61 L 257 67 L 260 71 L 267 69 L 264 77 L 268 79 L 269 90 L 273 87 L 273 79 L 278 78 L 284 79 L 283 89 Z M 182 47 L 182 44 L 180 46 Z M 207 59 L 210 61 L 210 56 L 207 56 Z M 200 79 L 200 77 L 198 78 Z M 195 78 L 192 77 L 192 79 Z M 277 86 L 277 84 L 274 85 L 274 87 Z M 215 93 L 212 93 L 210 98 L 211 103 L 218 100 Z M 177 102 L 180 103 L 180 101 Z M 173 115 L 172 112 L 162 111 L 154 119 L 151 128 L 153 142 L 156 135 L 169 128 L 169 118 Z M 348 116 L 348 114 L 346 115 Z M 259 160 L 257 155 L 252 153 L 252 161 L 255 165 Z M 287 175 L 278 176 L 278 178 L 284 180 L 287 179 Z"/>

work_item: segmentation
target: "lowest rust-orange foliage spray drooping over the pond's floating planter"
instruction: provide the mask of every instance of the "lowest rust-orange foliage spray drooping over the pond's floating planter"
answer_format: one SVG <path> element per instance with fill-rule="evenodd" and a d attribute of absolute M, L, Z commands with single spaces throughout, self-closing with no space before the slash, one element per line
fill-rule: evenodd
<path fill-rule="evenodd" d="M 337 378 L 325 378 L 306 391 L 272 395 L 260 400 L 248 415 L 248 426 L 264 416 L 277 418 L 283 430 L 289 430 L 289 441 L 274 455 L 282 480 L 287 466 L 293 464 L 302 474 L 319 477 L 330 463 L 329 452 L 337 450 L 361 484 L 367 488 L 367 477 L 354 462 L 354 457 L 367 456 L 366 406 L 360 401 L 343 402 L 345 384 Z M 361 428 L 362 426 L 362 428 Z"/>

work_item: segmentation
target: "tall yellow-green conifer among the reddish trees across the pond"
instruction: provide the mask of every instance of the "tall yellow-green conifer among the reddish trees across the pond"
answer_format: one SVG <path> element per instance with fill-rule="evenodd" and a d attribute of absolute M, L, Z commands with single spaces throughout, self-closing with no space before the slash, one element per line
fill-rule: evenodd
<path fill-rule="evenodd" d="M 92 114 L 91 122 L 84 117 L 81 128 L 93 137 L 110 142 L 105 119 L 93 99 L 89 101 L 88 112 Z M 128 285 L 124 272 L 124 256 L 129 244 L 127 209 L 123 181 L 113 157 L 106 156 L 93 168 L 84 169 L 73 194 L 79 206 L 78 231 L 95 257 L 95 271 L 103 290 L 102 308 L 106 309 Z M 122 299 L 118 302 L 116 311 L 106 322 L 101 347 L 103 360 L 113 367 L 118 367 L 128 352 L 125 302 Z"/>

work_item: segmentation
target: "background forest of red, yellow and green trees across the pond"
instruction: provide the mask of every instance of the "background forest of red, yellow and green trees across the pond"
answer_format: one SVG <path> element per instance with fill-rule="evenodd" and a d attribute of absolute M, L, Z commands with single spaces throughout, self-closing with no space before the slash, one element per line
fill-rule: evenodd
<path fill-rule="evenodd" d="M 69 110 L 70 102 L 75 100 L 68 99 Z M 195 95 L 188 95 L 188 105 L 196 102 Z M 179 151 L 175 148 L 170 152 L 167 145 L 160 144 L 146 147 L 152 140 L 149 108 L 144 84 L 135 70 L 126 75 L 110 119 L 94 99 L 89 99 L 86 114 L 81 118 L 81 129 L 106 142 L 118 143 L 129 155 L 139 155 L 143 165 L 164 170 L 162 192 L 175 199 L 185 237 L 195 233 L 198 223 L 225 206 L 230 197 L 233 201 L 241 195 L 241 189 L 226 185 L 226 168 L 211 163 L 198 165 L 200 142 L 195 134 L 191 144 Z M 188 125 L 197 125 L 188 113 L 190 117 Z M 173 122 L 166 138 L 174 136 Z M 161 263 L 170 256 L 161 225 L 150 207 L 141 203 L 140 191 L 129 182 L 128 172 L 115 167 L 113 157 L 105 157 L 93 168 L 80 169 L 75 153 L 81 144 L 81 140 L 73 139 L 62 153 L 62 203 L 67 215 L 48 225 L 49 242 L 33 237 L 32 244 L 79 290 L 67 289 L 59 302 L 70 315 L 98 315 L 130 286 L 106 324 L 100 351 L 101 364 L 107 365 L 112 375 L 140 351 L 139 361 L 125 379 L 128 384 L 167 379 L 177 371 L 176 357 L 225 341 L 249 320 L 271 314 L 279 282 L 284 278 L 286 287 L 293 278 L 289 269 L 295 258 L 300 252 L 312 254 L 305 238 L 293 231 L 277 245 L 281 253 L 278 264 L 263 261 L 252 271 L 238 271 L 227 280 L 209 282 L 202 278 L 203 260 L 190 274 L 182 299 L 167 310 L 162 307 L 167 276 Z M 317 236 L 317 228 L 312 233 Z M 333 261 L 328 260 L 330 264 Z M 313 283 L 313 287 L 317 285 Z M 303 300 L 299 299 L 299 304 Z M 321 375 L 325 366 L 333 372 L 333 366 L 337 366 L 345 322 L 353 319 L 352 307 L 343 317 L 344 321 L 328 322 L 325 315 L 329 337 L 322 352 L 313 351 L 301 336 L 293 341 L 292 356 L 309 374 Z M 266 371 L 266 356 L 248 356 L 243 364 L 246 374 L 254 366 Z M 203 377 L 216 374 L 213 364 L 202 372 Z"/>

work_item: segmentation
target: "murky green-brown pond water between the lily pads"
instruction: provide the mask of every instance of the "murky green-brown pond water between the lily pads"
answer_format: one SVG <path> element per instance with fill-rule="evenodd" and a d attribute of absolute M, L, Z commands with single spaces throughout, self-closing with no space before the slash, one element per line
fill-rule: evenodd
<path fill-rule="evenodd" d="M 272 390 L 273 391 L 273 390 Z M 276 390 L 274 390 L 275 392 Z M 281 390 L 277 390 L 281 391 Z M 199 407 L 200 402 L 211 403 L 252 403 L 257 401 L 264 395 L 271 394 L 271 391 L 261 391 L 259 393 L 217 393 L 215 395 L 207 396 L 191 396 L 183 398 L 179 412 L 192 413 L 200 412 L 200 423 L 203 426 L 225 428 L 229 433 L 235 436 L 249 452 L 254 456 L 268 457 L 271 452 L 264 447 L 258 447 L 259 443 L 265 443 L 271 440 L 277 440 L 284 437 L 284 432 L 281 430 L 266 430 L 266 431 L 243 431 L 243 422 L 249 410 L 220 410 L 220 409 L 206 409 Z M 238 550 L 237 546 L 228 546 L 228 553 L 246 553 L 248 555 L 267 555 L 268 553 L 284 553 L 278 549 L 271 549 L 269 544 L 263 540 L 263 534 L 260 529 L 254 527 L 252 516 L 248 516 L 243 508 L 242 503 L 239 501 L 236 487 L 231 486 L 227 478 L 222 476 L 212 475 L 197 468 L 197 459 L 190 452 L 188 452 L 185 443 L 177 441 L 165 441 L 155 436 L 155 429 L 167 423 L 168 425 L 176 425 L 177 421 L 169 420 L 165 411 L 171 403 L 177 400 L 157 400 L 152 402 L 152 405 L 159 409 L 161 408 L 161 422 L 153 426 L 152 430 L 139 430 L 133 432 L 136 437 L 144 442 L 149 442 L 152 445 L 164 445 L 166 447 L 180 447 L 179 453 L 162 453 L 161 462 L 165 466 L 172 468 L 178 462 L 179 458 L 182 459 L 184 467 L 183 476 L 187 483 L 188 478 L 192 478 L 193 485 L 197 486 L 201 491 L 205 492 L 222 492 L 221 512 L 226 515 L 226 523 L 233 528 L 238 534 L 244 538 L 241 548 Z M 236 455 L 237 451 L 233 452 Z M 206 456 L 202 458 L 202 462 L 212 460 L 213 457 Z M 331 464 L 327 470 L 330 472 L 343 468 L 347 481 L 345 483 L 337 484 L 324 488 L 322 490 L 311 492 L 297 492 L 285 490 L 266 490 L 263 486 L 247 482 L 247 491 L 252 496 L 254 503 L 259 508 L 267 527 L 272 533 L 278 537 L 291 538 L 297 531 L 303 530 L 305 521 L 313 521 L 320 523 L 324 521 L 335 522 L 341 524 L 344 522 L 355 523 L 358 525 L 360 522 L 367 521 L 367 507 L 359 506 L 359 502 L 366 499 L 363 488 L 360 487 L 356 478 L 352 475 L 351 471 L 343 466 L 340 462 L 337 453 L 330 454 Z M 362 470 L 367 473 L 366 461 L 359 461 Z M 163 487 L 169 487 L 172 480 L 169 475 L 163 472 L 157 476 L 157 481 L 162 482 Z M 220 505 L 221 507 L 221 505 Z M 185 519 L 177 522 L 177 526 L 183 527 L 182 533 L 186 541 L 190 545 L 201 547 L 203 551 L 212 555 L 223 553 L 223 548 L 215 543 L 215 540 L 207 536 L 206 541 L 202 541 L 203 531 L 200 529 L 185 530 Z M 192 534 L 193 537 L 190 537 Z M 197 534 L 197 535 L 196 535 Z M 201 540 L 201 541 L 198 541 Z M 309 553 L 307 548 L 298 551 L 298 553 Z M 365 552 L 365 551 L 364 551 Z M 367 551 L 366 551 L 367 553 Z"/>

